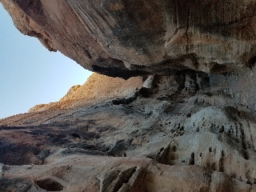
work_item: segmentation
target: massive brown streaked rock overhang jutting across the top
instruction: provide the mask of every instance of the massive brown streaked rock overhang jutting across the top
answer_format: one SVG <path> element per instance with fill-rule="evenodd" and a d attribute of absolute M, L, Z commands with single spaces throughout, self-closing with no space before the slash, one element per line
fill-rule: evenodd
<path fill-rule="evenodd" d="M 101 74 L 129 78 L 254 65 L 255 1 L 2 0 L 23 34 Z"/>

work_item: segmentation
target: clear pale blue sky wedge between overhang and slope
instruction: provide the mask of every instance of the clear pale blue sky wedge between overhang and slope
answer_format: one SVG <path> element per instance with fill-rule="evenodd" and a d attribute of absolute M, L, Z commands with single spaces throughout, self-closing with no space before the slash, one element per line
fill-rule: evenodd
<path fill-rule="evenodd" d="M 0 3 L 0 118 L 56 102 L 91 72 L 21 34 Z"/>

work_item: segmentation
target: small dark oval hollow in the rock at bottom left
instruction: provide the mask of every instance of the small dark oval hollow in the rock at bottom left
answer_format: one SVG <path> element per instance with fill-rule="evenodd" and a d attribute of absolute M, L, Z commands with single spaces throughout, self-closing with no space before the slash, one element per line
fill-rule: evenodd
<path fill-rule="evenodd" d="M 60 183 L 54 181 L 51 178 L 46 178 L 42 180 L 38 180 L 35 182 L 40 188 L 47 191 L 62 191 L 64 190 L 64 186 Z"/>

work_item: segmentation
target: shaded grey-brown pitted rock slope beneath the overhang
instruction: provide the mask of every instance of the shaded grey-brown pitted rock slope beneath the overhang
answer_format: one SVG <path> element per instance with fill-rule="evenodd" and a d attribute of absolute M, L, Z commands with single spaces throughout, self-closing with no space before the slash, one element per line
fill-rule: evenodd
<path fill-rule="evenodd" d="M 2 119 L 0 190 L 255 191 L 246 73 L 154 75 L 126 97 Z"/>

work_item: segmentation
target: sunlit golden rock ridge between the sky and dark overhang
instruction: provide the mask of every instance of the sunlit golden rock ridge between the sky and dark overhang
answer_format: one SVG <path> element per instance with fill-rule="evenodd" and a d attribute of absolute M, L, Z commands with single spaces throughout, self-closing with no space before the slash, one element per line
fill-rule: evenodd
<path fill-rule="evenodd" d="M 110 78 L 102 74 L 92 74 L 82 86 L 73 86 L 58 102 L 34 106 L 29 112 L 42 110 L 69 109 L 86 103 L 102 102 L 110 98 L 126 97 L 142 87 L 142 78 Z"/>

